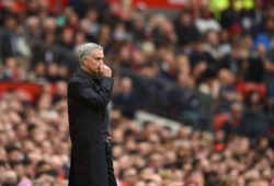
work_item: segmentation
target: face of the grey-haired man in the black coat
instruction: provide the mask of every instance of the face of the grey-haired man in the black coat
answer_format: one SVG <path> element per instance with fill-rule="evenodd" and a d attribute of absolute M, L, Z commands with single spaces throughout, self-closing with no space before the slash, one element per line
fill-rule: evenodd
<path fill-rule="evenodd" d="M 101 66 L 104 63 L 104 51 L 101 49 L 95 49 L 90 54 L 90 60 L 83 57 L 83 66 L 89 70 L 91 74 L 99 73 L 101 71 Z"/>

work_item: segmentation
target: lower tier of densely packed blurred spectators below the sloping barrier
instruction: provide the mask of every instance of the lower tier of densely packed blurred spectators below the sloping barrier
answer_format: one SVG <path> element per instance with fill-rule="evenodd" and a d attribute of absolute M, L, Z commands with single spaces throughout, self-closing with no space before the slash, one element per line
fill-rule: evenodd
<path fill-rule="evenodd" d="M 0 184 L 65 186 L 70 140 L 65 82 L 45 84 L 33 105 L 22 91 L 0 100 Z M 153 120 L 138 127 L 114 109 L 111 117 L 119 186 L 269 186 L 274 182 L 273 140 L 194 130 L 176 132 Z"/>

